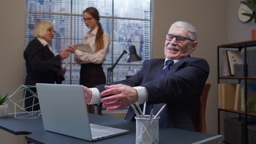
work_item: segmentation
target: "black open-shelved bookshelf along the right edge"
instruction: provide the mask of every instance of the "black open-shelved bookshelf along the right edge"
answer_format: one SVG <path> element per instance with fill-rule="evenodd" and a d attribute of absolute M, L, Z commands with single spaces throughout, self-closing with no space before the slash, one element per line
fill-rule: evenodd
<path fill-rule="evenodd" d="M 240 83 L 241 80 L 245 81 L 244 84 L 244 89 L 247 89 L 247 80 L 256 80 L 256 76 L 247 76 L 247 71 L 248 71 L 248 66 L 247 66 L 247 47 L 252 47 L 256 46 L 256 40 L 248 40 L 248 41 L 240 41 L 237 43 L 230 43 L 230 44 L 223 44 L 223 45 L 218 45 L 217 46 L 217 57 L 218 57 L 218 83 L 220 83 L 220 80 L 238 80 Z M 245 49 L 245 52 L 243 54 L 244 57 L 244 62 L 243 62 L 243 76 L 222 76 L 220 75 L 220 56 L 222 54 L 220 52 L 226 50 L 226 49 L 238 49 L 241 51 L 242 49 Z M 247 91 L 244 91 L 244 100 L 245 104 L 247 103 Z M 223 96 L 223 95 L 222 95 Z M 218 99 L 220 97 L 218 96 Z M 247 130 L 247 125 L 248 125 L 248 116 L 256 116 L 256 113 L 247 113 L 247 106 L 245 106 L 245 112 L 243 111 L 235 111 L 232 109 L 222 109 L 218 106 L 218 134 L 220 134 L 220 111 L 225 111 L 225 112 L 231 112 L 231 113 L 237 113 L 239 115 L 239 118 L 242 116 L 245 116 L 245 127 L 246 127 L 246 141 L 245 143 L 248 143 L 248 130 Z"/>

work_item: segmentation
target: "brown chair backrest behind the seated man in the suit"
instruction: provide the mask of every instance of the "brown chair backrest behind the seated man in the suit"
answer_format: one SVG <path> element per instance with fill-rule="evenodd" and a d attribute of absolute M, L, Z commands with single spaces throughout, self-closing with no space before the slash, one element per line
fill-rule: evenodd
<path fill-rule="evenodd" d="M 200 103 L 197 110 L 197 118 L 195 123 L 195 131 L 200 133 L 206 133 L 206 121 L 205 121 L 205 109 L 208 92 L 210 90 L 211 83 L 205 83 L 202 95 L 200 97 Z"/>

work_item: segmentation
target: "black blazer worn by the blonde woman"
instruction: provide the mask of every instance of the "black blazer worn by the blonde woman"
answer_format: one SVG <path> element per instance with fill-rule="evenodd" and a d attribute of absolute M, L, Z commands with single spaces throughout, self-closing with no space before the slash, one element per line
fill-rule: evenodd
<path fill-rule="evenodd" d="M 61 58 L 54 56 L 48 46 L 43 46 L 38 39 L 30 41 L 24 51 L 27 76 L 25 85 L 36 85 L 36 83 L 61 83 L 63 76 L 61 72 Z"/>

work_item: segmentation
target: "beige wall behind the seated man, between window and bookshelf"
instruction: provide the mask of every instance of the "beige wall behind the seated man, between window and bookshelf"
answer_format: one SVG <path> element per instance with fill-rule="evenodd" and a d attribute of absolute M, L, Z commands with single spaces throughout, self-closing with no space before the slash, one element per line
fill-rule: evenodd
<path fill-rule="evenodd" d="M 193 57 L 205 58 L 210 65 L 211 83 L 206 107 L 208 133 L 217 133 L 217 45 L 227 43 L 227 1 L 158 0 L 154 2 L 153 58 L 164 57 L 165 33 L 171 23 L 187 21 L 197 28 L 199 44 Z M 235 13 L 236 14 L 236 13 Z M 189 71 L 188 71 L 189 73 Z M 200 76 L 199 76 L 200 77 Z"/>

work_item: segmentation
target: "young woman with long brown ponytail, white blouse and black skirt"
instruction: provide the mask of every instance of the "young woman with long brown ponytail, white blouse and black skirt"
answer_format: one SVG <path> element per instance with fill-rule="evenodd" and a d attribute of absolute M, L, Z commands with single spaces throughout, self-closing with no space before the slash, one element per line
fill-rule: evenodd
<path fill-rule="evenodd" d="M 90 31 L 85 34 L 82 41 L 84 45 L 90 45 L 92 52 L 83 52 L 74 45 L 69 45 L 69 50 L 75 54 L 75 61 L 81 65 L 80 85 L 94 87 L 106 83 L 102 63 L 104 63 L 108 46 L 110 44 L 109 34 L 103 31 L 100 23 L 100 14 L 94 7 L 83 11 L 83 19 Z M 88 112 L 94 113 L 94 105 L 88 105 Z M 98 111 L 98 113 L 101 113 Z"/>

